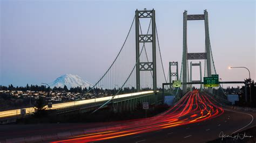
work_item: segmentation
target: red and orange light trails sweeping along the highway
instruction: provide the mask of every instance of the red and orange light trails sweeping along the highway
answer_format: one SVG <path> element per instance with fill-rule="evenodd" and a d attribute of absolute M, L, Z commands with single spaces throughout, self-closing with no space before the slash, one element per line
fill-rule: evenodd
<path fill-rule="evenodd" d="M 212 99 L 212 98 L 211 98 Z M 158 116 L 114 122 L 100 128 L 88 130 L 84 135 L 71 137 L 65 140 L 55 142 L 90 142 L 106 139 L 124 137 L 126 135 L 140 134 L 162 130 L 164 128 L 176 127 L 191 123 L 197 123 L 206 119 L 218 117 L 224 113 L 224 110 L 213 104 L 207 95 L 198 90 L 188 92 L 183 99 L 174 105 L 171 109 L 161 113 Z M 120 124 L 122 123 L 122 124 Z"/>

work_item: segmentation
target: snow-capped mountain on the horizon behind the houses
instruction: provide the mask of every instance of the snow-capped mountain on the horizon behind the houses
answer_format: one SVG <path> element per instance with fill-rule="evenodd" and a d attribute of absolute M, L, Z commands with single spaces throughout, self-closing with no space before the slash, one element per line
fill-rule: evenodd
<path fill-rule="evenodd" d="M 75 87 L 82 87 L 82 88 L 89 88 L 92 87 L 93 84 L 83 80 L 83 78 L 79 77 L 78 75 L 72 74 L 65 74 L 58 77 L 55 81 L 49 83 L 50 87 L 68 87 L 68 89 L 75 88 Z"/>

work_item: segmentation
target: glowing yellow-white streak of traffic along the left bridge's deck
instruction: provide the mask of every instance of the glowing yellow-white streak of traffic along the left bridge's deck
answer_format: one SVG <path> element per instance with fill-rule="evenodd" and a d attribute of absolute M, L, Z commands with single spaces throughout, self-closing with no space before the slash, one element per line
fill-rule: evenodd
<path fill-rule="evenodd" d="M 129 96 L 136 96 L 136 95 L 143 95 L 143 94 L 152 94 L 152 93 L 153 93 L 153 91 L 143 91 L 143 92 L 136 92 L 136 93 L 132 93 L 132 94 L 123 94 L 123 95 L 115 96 L 114 99 L 129 97 Z M 59 108 L 65 108 L 65 107 L 74 106 L 74 105 L 102 102 L 102 101 L 107 101 L 111 98 L 112 98 L 112 96 L 107 96 L 107 97 L 101 97 L 101 98 L 86 99 L 86 100 L 82 100 L 82 101 L 73 101 L 73 102 L 52 104 L 51 109 L 59 109 Z M 26 113 L 32 113 L 35 111 L 33 107 L 32 108 L 24 108 L 24 109 L 26 109 Z M 21 109 L 7 110 L 7 111 L 0 112 L 0 118 L 13 117 L 13 116 L 19 116 L 19 115 L 21 115 Z"/>

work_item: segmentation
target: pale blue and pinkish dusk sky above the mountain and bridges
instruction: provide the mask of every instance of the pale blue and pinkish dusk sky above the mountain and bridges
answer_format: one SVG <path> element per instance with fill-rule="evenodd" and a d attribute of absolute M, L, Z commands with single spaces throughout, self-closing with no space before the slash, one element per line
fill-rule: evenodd
<path fill-rule="evenodd" d="M 219 77 L 243 81 L 247 70 L 228 67 L 245 66 L 256 80 L 255 1 L 3 0 L 0 4 L 0 85 L 50 83 L 64 74 L 95 84 L 122 46 L 134 11 L 144 8 L 156 10 L 166 74 L 169 61 L 178 61 L 180 71 L 184 10 L 203 14 L 207 9 Z M 204 22 L 187 25 L 188 52 L 203 52 Z M 199 70 L 193 69 L 199 79 Z"/>

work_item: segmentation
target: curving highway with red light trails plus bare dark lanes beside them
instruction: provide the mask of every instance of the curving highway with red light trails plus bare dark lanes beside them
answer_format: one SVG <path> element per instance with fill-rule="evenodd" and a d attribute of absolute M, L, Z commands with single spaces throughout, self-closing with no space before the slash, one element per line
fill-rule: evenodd
<path fill-rule="evenodd" d="M 97 133 L 52 142 L 206 142 L 218 138 L 221 131 L 231 134 L 255 125 L 253 116 L 223 109 L 218 101 L 195 90 L 156 117 L 103 125 Z"/>

